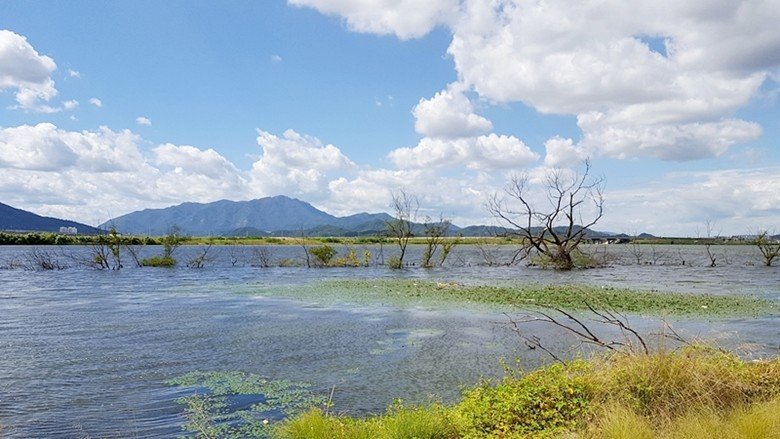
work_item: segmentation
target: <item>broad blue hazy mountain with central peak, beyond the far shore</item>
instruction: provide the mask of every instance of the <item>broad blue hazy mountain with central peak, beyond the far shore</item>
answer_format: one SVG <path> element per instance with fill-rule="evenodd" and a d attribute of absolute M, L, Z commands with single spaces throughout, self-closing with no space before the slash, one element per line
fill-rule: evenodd
<path fill-rule="evenodd" d="M 347 232 L 373 229 L 390 218 L 387 214 L 359 213 L 336 217 L 309 203 L 285 196 L 250 201 L 220 200 L 183 203 L 164 209 L 145 209 L 114 218 L 101 227 L 115 226 L 122 233 L 163 235 L 178 226 L 192 235 L 258 236 L 332 226 Z M 293 233 L 294 232 L 294 233 Z"/>

